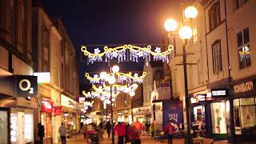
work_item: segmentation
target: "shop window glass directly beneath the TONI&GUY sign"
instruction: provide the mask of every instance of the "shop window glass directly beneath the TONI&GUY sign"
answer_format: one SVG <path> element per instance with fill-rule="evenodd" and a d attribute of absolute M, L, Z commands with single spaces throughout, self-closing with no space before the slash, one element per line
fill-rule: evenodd
<path fill-rule="evenodd" d="M 235 134 L 256 134 L 255 98 L 234 99 Z"/>

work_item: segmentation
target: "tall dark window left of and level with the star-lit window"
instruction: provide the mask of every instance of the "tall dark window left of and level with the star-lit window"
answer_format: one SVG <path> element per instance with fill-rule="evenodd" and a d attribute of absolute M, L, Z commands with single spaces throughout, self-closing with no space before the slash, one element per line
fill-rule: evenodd
<path fill-rule="evenodd" d="M 214 74 L 222 71 L 222 49 L 221 40 L 216 40 L 212 45 Z"/>

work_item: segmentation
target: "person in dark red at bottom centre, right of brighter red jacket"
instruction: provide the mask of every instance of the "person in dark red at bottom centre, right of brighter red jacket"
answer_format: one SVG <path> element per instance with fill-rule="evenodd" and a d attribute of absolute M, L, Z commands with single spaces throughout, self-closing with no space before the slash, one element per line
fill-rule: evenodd
<path fill-rule="evenodd" d="M 131 126 L 129 126 L 128 129 L 128 135 L 129 135 L 129 139 L 131 144 L 141 144 L 141 139 L 139 137 L 140 131 L 136 129 L 136 126 L 133 124 L 131 124 Z"/>

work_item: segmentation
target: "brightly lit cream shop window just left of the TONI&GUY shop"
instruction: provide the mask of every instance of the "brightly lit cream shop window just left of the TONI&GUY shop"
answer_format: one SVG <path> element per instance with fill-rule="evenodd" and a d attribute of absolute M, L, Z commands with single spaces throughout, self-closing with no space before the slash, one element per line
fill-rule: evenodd
<path fill-rule="evenodd" d="M 227 134 L 227 120 L 230 113 L 229 102 L 211 103 L 210 109 L 213 134 Z"/>

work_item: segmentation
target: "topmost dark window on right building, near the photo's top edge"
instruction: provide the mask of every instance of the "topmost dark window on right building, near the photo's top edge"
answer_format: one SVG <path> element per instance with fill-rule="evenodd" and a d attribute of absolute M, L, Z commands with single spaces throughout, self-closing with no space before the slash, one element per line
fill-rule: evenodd
<path fill-rule="evenodd" d="M 210 7 L 208 11 L 209 14 L 209 25 L 210 30 L 214 30 L 221 23 L 221 13 L 220 13 L 220 5 L 219 1 L 215 2 L 213 6 Z"/>

